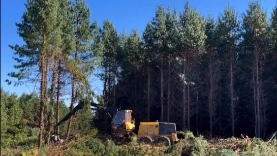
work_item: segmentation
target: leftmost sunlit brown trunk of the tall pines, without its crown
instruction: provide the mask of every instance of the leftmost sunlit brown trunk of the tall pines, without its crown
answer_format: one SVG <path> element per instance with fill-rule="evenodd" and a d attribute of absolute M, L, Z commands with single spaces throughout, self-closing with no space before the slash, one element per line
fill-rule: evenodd
<path fill-rule="evenodd" d="M 41 90 L 40 90 L 40 122 L 39 122 L 39 127 L 40 127 L 40 131 L 39 131 L 39 148 L 42 146 L 42 141 L 43 141 L 43 133 L 44 133 L 44 123 L 43 123 L 43 120 L 44 120 L 44 104 L 45 104 L 45 99 L 44 99 L 44 89 L 45 89 L 45 86 L 44 86 L 44 64 L 45 64 L 45 41 L 46 41 L 46 37 L 45 35 L 43 36 L 43 51 L 41 53 Z"/>

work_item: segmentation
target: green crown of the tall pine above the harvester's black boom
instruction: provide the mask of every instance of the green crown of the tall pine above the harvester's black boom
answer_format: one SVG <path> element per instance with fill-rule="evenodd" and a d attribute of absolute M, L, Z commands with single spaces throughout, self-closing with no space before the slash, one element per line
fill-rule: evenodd
<path fill-rule="evenodd" d="M 87 85 L 84 76 L 89 77 L 94 73 L 95 66 L 98 65 L 98 58 L 102 54 L 100 28 L 97 21 L 90 24 L 90 10 L 84 1 L 76 1 L 72 6 L 71 13 L 73 24 L 69 27 L 73 26 L 73 35 L 76 41 L 71 56 L 73 65 L 69 66 L 68 70 L 73 74 L 75 82 Z"/>

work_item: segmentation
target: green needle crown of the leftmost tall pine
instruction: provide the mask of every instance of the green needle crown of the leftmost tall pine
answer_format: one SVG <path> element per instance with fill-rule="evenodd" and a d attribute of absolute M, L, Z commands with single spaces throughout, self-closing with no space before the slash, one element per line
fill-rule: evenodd
<path fill-rule="evenodd" d="M 50 53 L 46 55 L 46 50 L 49 52 L 52 50 L 52 45 L 58 47 L 58 2 L 57 0 L 47 1 L 27 1 L 24 4 L 25 11 L 22 15 L 22 22 L 16 22 L 18 28 L 18 35 L 23 39 L 25 44 L 9 45 L 11 49 L 15 51 L 13 59 L 19 63 L 15 65 L 15 69 L 20 69 L 19 72 L 11 72 L 8 76 L 17 78 L 18 82 L 14 82 L 15 85 L 21 85 L 29 82 L 34 82 L 37 77 L 37 72 L 34 72 L 34 68 L 39 68 L 41 65 L 42 54 L 44 56 L 50 56 Z M 51 33 L 51 35 L 50 35 Z M 56 49 L 54 49 L 56 50 Z M 25 81 L 23 81 L 25 80 Z M 12 81 L 6 80 L 8 84 Z"/>

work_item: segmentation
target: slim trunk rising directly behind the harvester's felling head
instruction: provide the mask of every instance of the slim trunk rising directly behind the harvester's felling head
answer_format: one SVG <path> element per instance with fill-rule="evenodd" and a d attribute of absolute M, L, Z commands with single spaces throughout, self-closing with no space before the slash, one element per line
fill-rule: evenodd
<path fill-rule="evenodd" d="M 60 96 L 60 76 L 61 76 L 61 60 L 58 62 L 58 81 L 57 81 L 57 107 L 56 107 L 56 123 L 59 122 L 59 96 Z M 56 127 L 56 133 L 59 136 L 59 127 Z"/>

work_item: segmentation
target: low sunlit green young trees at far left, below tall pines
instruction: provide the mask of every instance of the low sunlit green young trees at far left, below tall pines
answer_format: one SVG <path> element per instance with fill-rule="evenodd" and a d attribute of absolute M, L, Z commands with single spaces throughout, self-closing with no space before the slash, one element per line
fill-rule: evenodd
<path fill-rule="evenodd" d="M 37 147 L 39 100 L 36 97 L 36 94 L 26 93 L 17 97 L 1 88 L 1 148 L 20 146 L 27 150 Z M 65 116 L 68 112 L 65 103 L 61 102 L 60 115 Z M 66 132 L 67 127 L 61 126 L 61 130 Z"/>

